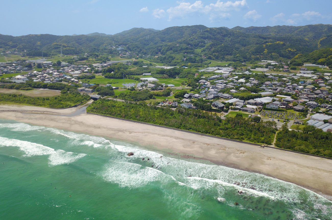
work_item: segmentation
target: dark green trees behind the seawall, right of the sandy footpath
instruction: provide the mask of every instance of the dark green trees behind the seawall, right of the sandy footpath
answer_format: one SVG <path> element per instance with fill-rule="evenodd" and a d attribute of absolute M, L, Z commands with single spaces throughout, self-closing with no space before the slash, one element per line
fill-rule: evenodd
<path fill-rule="evenodd" d="M 288 130 L 287 125 L 277 133 L 276 147 L 332 157 L 332 133 L 323 132 L 322 129 L 306 125 L 303 132 Z"/>

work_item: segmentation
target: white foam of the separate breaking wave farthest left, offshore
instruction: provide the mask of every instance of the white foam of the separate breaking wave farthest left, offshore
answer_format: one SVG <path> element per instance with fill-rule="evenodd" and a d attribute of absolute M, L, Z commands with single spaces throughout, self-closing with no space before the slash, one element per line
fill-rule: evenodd
<path fill-rule="evenodd" d="M 31 157 L 38 155 L 49 155 L 49 166 L 56 166 L 65 163 L 73 163 L 82 158 L 86 154 L 75 154 L 72 152 L 65 152 L 63 150 L 54 151 L 53 148 L 43 146 L 41 144 L 32 143 L 29 141 L 21 141 L 17 139 L 9 139 L 0 137 L 0 147 L 18 147 L 20 151 L 25 154 L 23 156 Z"/>

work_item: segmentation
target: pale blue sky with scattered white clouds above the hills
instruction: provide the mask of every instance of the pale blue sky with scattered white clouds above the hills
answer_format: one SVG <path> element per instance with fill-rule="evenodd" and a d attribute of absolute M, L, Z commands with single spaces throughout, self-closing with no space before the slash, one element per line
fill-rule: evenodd
<path fill-rule="evenodd" d="M 1 3 L 0 34 L 116 34 L 133 27 L 162 30 L 196 24 L 331 24 L 331 7 L 331 0 L 11 0 Z"/>

